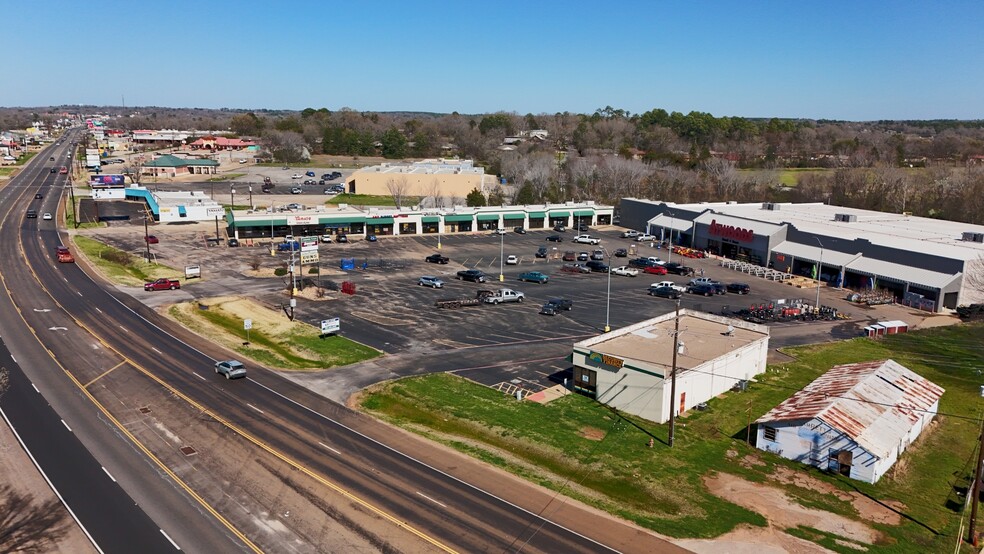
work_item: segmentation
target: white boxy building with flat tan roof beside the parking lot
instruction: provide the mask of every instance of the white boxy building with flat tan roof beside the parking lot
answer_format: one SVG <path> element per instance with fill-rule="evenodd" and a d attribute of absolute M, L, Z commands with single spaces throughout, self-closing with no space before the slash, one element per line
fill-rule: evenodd
<path fill-rule="evenodd" d="M 664 423 L 765 371 L 769 328 L 680 310 L 574 344 L 574 387 L 609 406 Z M 677 345 L 676 398 L 671 398 Z"/>

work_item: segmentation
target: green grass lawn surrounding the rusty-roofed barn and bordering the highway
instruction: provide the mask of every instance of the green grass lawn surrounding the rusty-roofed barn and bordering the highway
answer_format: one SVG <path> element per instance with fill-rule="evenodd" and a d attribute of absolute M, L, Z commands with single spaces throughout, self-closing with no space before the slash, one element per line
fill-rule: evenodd
<path fill-rule="evenodd" d="M 666 446 L 667 428 L 626 418 L 572 395 L 541 406 L 516 402 L 450 375 L 408 378 L 367 391 L 362 407 L 393 423 L 638 524 L 677 537 L 713 537 L 762 516 L 721 500 L 702 478 L 716 472 L 783 487 L 801 504 L 861 519 L 829 494 L 773 481 L 779 466 L 843 491 L 901 502 L 903 523 L 870 524 L 886 539 L 869 552 L 952 552 L 960 513 L 955 482 L 972 466 L 981 411 L 977 368 L 984 367 L 984 326 L 958 326 L 793 349 L 793 363 L 770 367 L 744 393 L 728 393 L 707 411 L 687 414 Z M 831 366 L 893 358 L 947 392 L 936 423 L 877 485 L 826 475 L 745 444 L 746 425 Z M 947 414 L 947 415 L 944 415 Z M 655 447 L 646 446 L 650 437 Z M 737 463 L 753 459 L 755 463 Z M 963 482 L 962 484 L 966 484 Z M 811 528 L 795 530 L 842 552 L 856 552 Z M 915 550 L 914 550 L 915 549 Z"/>

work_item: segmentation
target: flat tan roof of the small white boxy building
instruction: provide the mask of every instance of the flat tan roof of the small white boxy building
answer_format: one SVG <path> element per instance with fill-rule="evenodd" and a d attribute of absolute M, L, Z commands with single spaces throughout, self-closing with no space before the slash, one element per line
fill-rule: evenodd
<path fill-rule="evenodd" d="M 574 348 L 588 348 L 618 358 L 639 360 L 654 366 L 672 369 L 673 312 L 641 321 L 574 343 Z M 731 333 L 729 334 L 729 327 Z M 683 352 L 677 354 L 677 370 L 686 371 L 707 361 L 734 351 L 753 342 L 767 339 L 769 328 L 737 319 L 703 312 L 680 310 L 679 341 Z"/>

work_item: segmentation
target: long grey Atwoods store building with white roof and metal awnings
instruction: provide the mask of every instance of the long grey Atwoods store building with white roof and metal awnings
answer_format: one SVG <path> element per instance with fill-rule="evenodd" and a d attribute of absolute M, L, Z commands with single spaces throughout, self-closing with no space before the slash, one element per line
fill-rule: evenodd
<path fill-rule="evenodd" d="M 674 204 L 625 198 L 624 226 L 853 290 L 882 289 L 929 311 L 984 300 L 964 276 L 984 226 L 822 203 Z"/>

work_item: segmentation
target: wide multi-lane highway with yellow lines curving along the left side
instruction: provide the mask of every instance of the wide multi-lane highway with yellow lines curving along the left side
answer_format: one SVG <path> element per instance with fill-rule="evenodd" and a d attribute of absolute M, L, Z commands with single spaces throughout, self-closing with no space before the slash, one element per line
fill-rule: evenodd
<path fill-rule="evenodd" d="M 46 150 L 41 155 L 44 161 L 49 155 L 56 160 L 63 155 L 59 148 L 49 149 L 51 153 Z M 326 493 L 341 495 L 356 509 L 398 527 L 414 541 L 422 541 L 426 549 L 681 551 L 667 543 L 650 542 L 652 537 L 637 529 L 567 504 L 563 511 L 556 511 L 567 526 L 554 523 L 537 515 L 545 508 L 536 503 L 537 499 L 542 500 L 544 495 L 514 494 L 514 498 L 530 499 L 530 505 L 522 507 L 516 501 L 507 502 L 477 489 L 374 440 L 369 435 L 389 436 L 390 431 L 273 372 L 251 367 L 249 378 L 233 382 L 216 376 L 212 372 L 215 360 L 205 353 L 207 349 L 218 356 L 216 349 L 183 329 L 172 328 L 152 310 L 112 286 L 93 281 L 75 264 L 54 261 L 54 248 L 61 243 L 55 222 L 25 220 L 22 216 L 28 204 L 39 202 L 33 200 L 36 190 L 44 194 L 39 212 L 54 213 L 56 195 L 61 192 L 60 182 L 53 179 L 56 175 L 48 174 L 45 164 L 37 165 L 40 167 L 31 167 L 24 177 L 12 183 L 13 187 L 0 193 L 0 259 L 7 260 L 3 284 L 9 294 L 0 298 L 0 330 L 5 339 L 16 337 L 16 342 L 9 344 L 18 359 L 23 352 L 34 362 L 25 370 L 30 379 L 35 379 L 32 373 L 45 372 L 50 394 L 67 398 L 64 402 L 80 406 L 80 411 L 95 414 L 96 417 L 89 416 L 87 427 L 91 434 L 102 438 L 94 440 L 90 450 L 102 449 L 107 442 L 129 442 L 127 458 L 136 461 L 119 463 L 124 466 L 121 473 L 132 475 L 128 483 L 137 492 L 131 494 L 153 504 L 141 506 L 159 526 L 175 519 L 183 522 L 176 526 L 180 529 L 167 529 L 183 549 L 276 547 L 243 534 L 237 527 L 238 520 L 215 512 L 197 496 L 192 485 L 184 484 L 170 468 L 163 467 L 159 458 L 123 431 L 125 426 L 117 420 L 124 417 L 121 414 L 125 411 L 112 402 L 112 387 L 117 383 L 167 391 L 189 409 L 198 411 L 203 425 L 221 426 L 224 433 L 235 434 L 252 445 L 257 457 L 288 464 L 320 483 Z M 17 311 L 11 312 L 12 308 Z M 38 335 L 37 339 L 26 332 L 24 323 Z M 41 344 L 46 350 L 39 348 Z M 59 364 L 64 371 L 59 371 Z M 86 402 L 90 403 L 88 407 Z M 125 406 L 125 398 L 119 404 Z M 126 410 L 131 408 L 127 406 Z M 120 434 L 127 435 L 126 439 L 121 441 Z M 401 450 L 406 442 L 401 440 Z M 154 477 L 141 477 L 141 472 L 148 470 Z M 509 487 L 515 489 L 517 485 L 511 483 Z M 166 494 L 161 489 L 167 489 Z M 156 497 L 158 493 L 162 495 L 160 499 Z M 552 507 L 557 508 L 556 504 L 560 502 L 554 502 Z M 104 517 L 99 510 L 85 511 L 98 512 L 92 516 L 95 520 Z M 79 514 L 80 520 L 86 521 L 87 517 Z M 585 525 L 586 521 L 593 524 Z M 92 525 L 96 527 L 95 523 Z M 571 530 L 573 525 L 584 534 Z M 150 527 L 161 534 L 156 526 Z M 143 531 L 141 537 L 150 532 Z M 106 541 L 107 545 L 115 544 L 110 539 Z M 223 545 L 221 541 L 227 542 Z M 97 542 L 103 544 L 99 538 Z M 144 543 L 141 539 L 131 544 Z M 107 547 L 106 551 L 116 550 Z"/>

